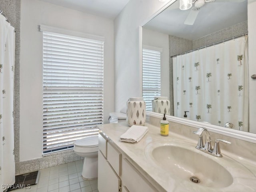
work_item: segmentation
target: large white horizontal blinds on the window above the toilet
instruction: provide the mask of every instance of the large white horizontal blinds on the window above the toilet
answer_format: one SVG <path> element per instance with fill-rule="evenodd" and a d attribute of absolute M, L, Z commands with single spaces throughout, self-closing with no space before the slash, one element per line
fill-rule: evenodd
<path fill-rule="evenodd" d="M 43 153 L 49 153 L 98 134 L 96 124 L 103 122 L 104 42 L 42 31 Z"/>

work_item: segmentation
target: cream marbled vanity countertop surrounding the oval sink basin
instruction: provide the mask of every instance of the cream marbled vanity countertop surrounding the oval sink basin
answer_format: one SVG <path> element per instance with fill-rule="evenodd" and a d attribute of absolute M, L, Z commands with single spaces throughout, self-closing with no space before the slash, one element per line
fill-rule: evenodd
<path fill-rule="evenodd" d="M 256 163 L 246 161 L 243 165 L 239 164 L 238 167 L 242 167 L 242 169 L 248 172 L 246 174 L 234 174 L 232 176 L 234 178 L 233 184 L 226 188 L 210 188 L 206 186 L 201 186 L 200 184 L 193 183 L 189 180 L 180 180 L 179 178 L 175 177 L 175 175 L 171 174 L 170 172 L 166 172 L 162 168 L 156 166 L 156 164 L 150 161 L 146 154 L 145 148 L 148 144 L 152 144 L 153 141 L 158 140 L 180 140 L 190 142 L 191 145 L 196 146 L 197 142 L 188 138 L 185 138 L 181 135 L 174 134 L 169 132 L 169 136 L 161 136 L 160 135 L 160 128 L 146 124 L 148 126 L 148 133 L 140 140 L 138 143 L 127 143 L 127 142 L 120 142 L 120 136 L 130 128 L 126 122 L 122 123 L 114 123 L 114 124 L 102 124 L 98 125 L 98 128 L 103 132 L 103 134 L 116 146 L 120 152 L 126 154 L 129 160 L 132 161 L 133 164 L 136 165 L 136 168 L 151 182 L 160 192 L 256 192 Z M 236 156 L 232 156 L 232 154 L 225 154 L 222 151 L 223 159 L 214 157 L 210 154 L 206 154 L 202 151 L 199 151 L 203 155 L 209 156 L 216 161 L 222 163 L 222 166 L 225 168 L 232 168 L 231 164 L 228 162 L 243 162 L 242 159 L 237 158 Z M 230 158 L 232 160 L 230 160 Z M 201 162 L 198 162 L 201 163 Z M 235 164 L 237 165 L 237 164 Z M 210 166 L 210 165 L 209 165 Z"/>

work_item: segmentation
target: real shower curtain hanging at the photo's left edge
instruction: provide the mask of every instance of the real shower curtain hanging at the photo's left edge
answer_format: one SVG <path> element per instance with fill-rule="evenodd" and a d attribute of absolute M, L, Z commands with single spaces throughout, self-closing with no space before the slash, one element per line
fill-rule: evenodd
<path fill-rule="evenodd" d="M 0 186 L 15 183 L 14 28 L 0 14 Z"/>

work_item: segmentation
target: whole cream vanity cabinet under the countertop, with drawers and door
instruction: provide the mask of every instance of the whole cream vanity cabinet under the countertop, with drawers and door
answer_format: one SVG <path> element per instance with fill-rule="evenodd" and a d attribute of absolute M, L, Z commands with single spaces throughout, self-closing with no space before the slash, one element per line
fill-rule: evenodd
<path fill-rule="evenodd" d="M 99 192 L 158 192 L 134 165 L 99 134 L 98 152 Z"/>

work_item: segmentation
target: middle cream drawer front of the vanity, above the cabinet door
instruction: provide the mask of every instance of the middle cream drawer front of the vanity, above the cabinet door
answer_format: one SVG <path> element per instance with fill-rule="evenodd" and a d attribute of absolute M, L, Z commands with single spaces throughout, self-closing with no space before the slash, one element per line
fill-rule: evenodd
<path fill-rule="evenodd" d="M 110 142 L 108 142 L 107 154 L 108 154 L 108 162 L 110 163 L 112 168 L 115 170 L 116 174 L 118 174 L 118 176 L 121 176 L 122 154 L 116 148 L 114 148 L 114 146 L 112 146 Z"/>

